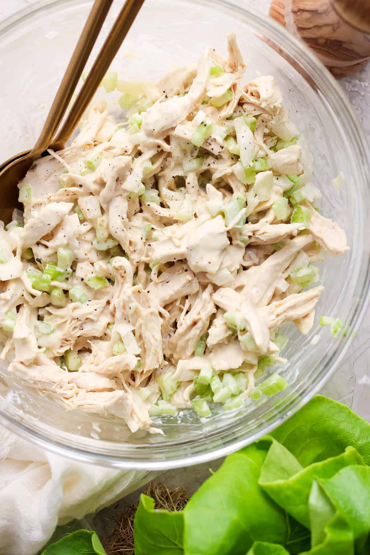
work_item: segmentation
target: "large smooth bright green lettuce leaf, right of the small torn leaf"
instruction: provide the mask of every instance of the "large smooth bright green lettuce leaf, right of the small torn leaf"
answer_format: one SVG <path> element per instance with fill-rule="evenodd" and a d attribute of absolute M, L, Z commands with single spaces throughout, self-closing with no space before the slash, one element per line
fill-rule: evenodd
<path fill-rule="evenodd" d="M 245 555 L 257 540 L 285 544 L 286 513 L 258 484 L 270 441 L 226 457 L 184 509 L 186 555 Z"/>

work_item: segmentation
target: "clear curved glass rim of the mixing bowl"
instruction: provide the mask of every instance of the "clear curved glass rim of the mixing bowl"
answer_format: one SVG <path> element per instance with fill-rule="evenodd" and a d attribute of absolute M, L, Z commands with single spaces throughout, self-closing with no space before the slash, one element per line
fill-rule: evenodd
<path fill-rule="evenodd" d="M 174 2 L 179 3 L 180 0 L 174 0 Z M 187 2 L 192 4 L 199 4 L 197 0 L 187 0 Z M 293 37 L 290 33 L 286 31 L 280 24 L 273 21 L 272 19 L 268 18 L 267 16 L 258 13 L 256 14 L 253 12 L 249 7 L 245 6 L 243 3 L 240 5 L 238 0 L 202 0 L 203 4 L 208 4 L 210 7 L 217 7 L 221 9 L 232 8 L 235 13 L 239 13 L 242 18 L 247 17 L 249 19 L 249 23 L 253 24 L 257 31 L 263 33 L 264 31 L 269 32 L 272 31 L 275 35 L 276 43 L 280 44 L 280 46 L 285 51 L 291 51 L 293 54 L 300 54 L 300 64 L 304 69 L 308 69 L 308 75 L 318 84 L 319 88 L 320 85 L 325 82 L 326 85 L 331 85 L 331 100 L 328 100 L 330 107 L 333 108 L 334 104 L 333 100 L 339 103 L 341 108 L 344 109 L 346 115 L 349 115 L 351 119 L 351 123 L 353 124 L 354 133 L 356 133 L 358 138 L 358 147 L 360 148 L 360 154 L 362 155 L 364 167 L 363 173 L 365 178 L 367 178 L 366 183 L 364 186 L 369 186 L 370 183 L 370 168 L 369 168 L 369 160 L 370 160 L 370 150 L 368 147 L 368 143 L 366 137 L 364 136 L 363 130 L 361 125 L 358 122 L 356 115 L 353 112 L 351 104 L 349 103 L 346 95 L 343 93 L 342 88 L 339 86 L 337 81 L 334 77 L 328 72 L 325 66 L 320 62 L 320 60 L 313 54 L 306 45 Z M 68 4 L 75 5 L 74 0 L 63 0 L 64 6 L 68 6 Z M 20 11 L 12 14 L 8 18 L 4 19 L 3 22 L 0 23 L 0 38 L 6 36 L 7 32 L 11 32 L 14 26 L 22 25 L 23 21 L 26 21 L 28 17 L 33 17 L 35 13 L 38 11 L 43 11 L 45 8 L 53 10 L 54 7 L 60 7 L 60 0 L 39 0 L 38 2 L 34 3 L 32 6 L 28 6 L 26 8 L 21 9 Z M 369 268 L 370 268 L 370 258 L 367 260 L 367 271 L 366 275 L 369 275 Z M 351 321 L 356 323 L 356 326 L 361 324 L 364 315 L 367 311 L 367 305 L 370 300 L 370 284 L 369 280 L 364 282 L 363 285 L 363 299 L 361 302 L 357 302 L 355 309 L 353 310 L 351 316 Z M 212 448 L 211 450 L 196 454 L 196 455 L 186 455 L 186 456 L 171 456 L 170 458 L 166 458 L 166 460 L 135 460 L 130 459 L 127 455 L 120 456 L 120 455 L 107 455 L 102 454 L 99 450 L 94 450 L 93 447 L 88 445 L 86 448 L 79 448 L 77 446 L 73 446 L 71 443 L 67 445 L 61 441 L 55 441 L 54 439 L 48 437 L 47 433 L 42 433 L 31 429 L 24 425 L 23 422 L 17 421 L 15 417 L 9 416 L 6 414 L 6 411 L 0 409 L 0 423 L 2 423 L 5 427 L 7 427 L 11 432 L 16 433 L 18 436 L 24 438 L 25 440 L 29 440 L 36 444 L 39 447 L 45 448 L 48 451 L 57 453 L 58 455 L 64 455 L 69 458 L 72 458 L 79 462 L 85 463 L 94 463 L 100 466 L 107 466 L 113 468 L 121 468 L 121 469 L 137 469 L 137 470 L 168 470 L 170 468 L 178 468 L 178 467 L 185 467 L 190 465 L 196 465 L 200 463 L 204 463 L 207 461 L 215 460 L 220 457 L 224 457 L 231 452 L 239 450 L 249 443 L 256 441 L 257 439 L 261 438 L 262 436 L 266 435 L 267 433 L 271 432 L 277 426 L 279 426 L 286 418 L 292 416 L 295 412 L 297 412 L 303 405 L 305 405 L 317 392 L 321 390 L 321 388 L 326 384 L 326 382 L 330 379 L 330 377 L 334 374 L 334 372 L 338 369 L 338 367 L 343 364 L 346 360 L 347 351 L 349 349 L 349 345 L 351 341 L 346 340 L 342 349 L 338 349 L 336 354 L 332 355 L 330 359 L 325 362 L 323 370 L 328 365 L 329 368 L 326 372 L 316 379 L 315 385 L 312 387 L 307 387 L 306 391 L 301 394 L 301 397 L 297 400 L 293 400 L 290 402 L 290 405 L 284 408 L 284 411 L 280 414 L 280 416 L 276 417 L 275 420 L 265 427 L 263 427 L 259 432 L 256 432 L 252 435 L 247 437 L 241 437 L 239 440 L 229 443 L 228 445 L 219 447 L 219 448 Z M 320 364 L 320 363 L 319 363 Z M 211 434 L 217 437 L 222 437 L 222 430 L 213 432 Z M 72 433 L 64 432 L 63 435 L 70 435 L 73 437 Z M 207 436 L 209 437 L 209 436 Z M 100 442 L 102 445 L 102 440 L 92 440 L 90 438 L 84 438 L 89 443 L 93 442 Z M 187 445 L 191 446 L 191 443 L 196 443 L 199 441 L 204 441 L 199 437 L 196 437 L 195 440 L 190 440 Z M 104 442 L 109 443 L 109 442 Z M 183 442 L 180 442 L 183 443 Z M 116 445 L 127 445 L 127 446 L 134 446 L 137 447 L 135 444 L 123 442 L 121 444 Z M 171 442 L 168 445 L 164 445 L 164 448 L 168 450 L 170 446 L 176 445 L 176 442 Z M 155 449 L 156 445 L 146 445 L 148 450 Z M 134 450 L 135 451 L 135 450 Z"/>

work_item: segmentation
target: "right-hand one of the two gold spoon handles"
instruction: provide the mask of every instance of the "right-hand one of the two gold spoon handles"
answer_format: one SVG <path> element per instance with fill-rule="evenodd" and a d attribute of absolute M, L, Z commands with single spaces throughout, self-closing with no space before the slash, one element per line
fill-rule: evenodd
<path fill-rule="evenodd" d="M 85 110 L 88 108 L 90 101 L 92 100 L 95 91 L 99 87 L 102 79 L 107 73 L 111 62 L 119 51 L 119 48 L 129 32 L 131 25 L 133 24 L 135 17 L 137 16 L 144 0 L 126 0 L 124 6 L 116 18 L 113 27 L 111 28 L 105 42 L 100 49 L 97 59 L 95 60 L 93 67 L 77 95 L 67 118 L 62 125 L 57 137 L 53 140 L 50 148 L 53 150 L 62 150 L 65 143 L 72 135 L 75 127 L 78 125 L 80 119 L 82 118 Z"/>

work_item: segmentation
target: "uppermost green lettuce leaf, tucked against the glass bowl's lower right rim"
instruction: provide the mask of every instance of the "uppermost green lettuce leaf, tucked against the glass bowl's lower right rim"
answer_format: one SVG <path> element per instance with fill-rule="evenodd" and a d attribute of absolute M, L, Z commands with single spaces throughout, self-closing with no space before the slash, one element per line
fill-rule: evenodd
<path fill-rule="evenodd" d="M 306 467 L 354 447 L 370 465 L 370 424 L 351 409 L 316 395 L 294 416 L 271 433 Z"/>

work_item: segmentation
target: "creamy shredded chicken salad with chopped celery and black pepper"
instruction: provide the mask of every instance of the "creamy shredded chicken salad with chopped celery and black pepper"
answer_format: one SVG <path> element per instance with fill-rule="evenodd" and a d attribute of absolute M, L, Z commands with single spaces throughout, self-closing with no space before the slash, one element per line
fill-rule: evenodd
<path fill-rule="evenodd" d="M 133 85 L 120 124 L 93 107 L 19 183 L 24 212 L 0 224 L 9 372 L 132 432 L 161 433 L 151 418 L 179 408 L 207 416 L 211 376 L 220 401 L 249 396 L 261 357 L 285 360 L 276 330 L 314 324 L 320 248 L 348 250 L 315 210 L 311 155 L 275 79 L 242 85 L 234 34 L 227 46 Z"/>

